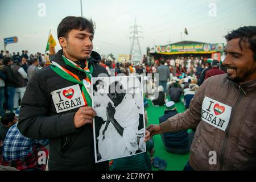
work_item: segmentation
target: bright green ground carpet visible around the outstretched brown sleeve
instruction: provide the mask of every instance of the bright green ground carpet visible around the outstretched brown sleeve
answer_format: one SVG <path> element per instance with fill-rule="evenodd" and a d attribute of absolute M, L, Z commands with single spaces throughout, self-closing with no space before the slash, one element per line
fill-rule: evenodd
<path fill-rule="evenodd" d="M 168 98 L 168 97 L 167 97 Z M 170 100 L 170 98 L 168 98 Z M 155 107 L 152 105 L 150 100 L 148 101 L 148 107 L 145 109 L 147 110 L 148 116 L 148 125 L 150 124 L 159 124 L 159 117 L 164 114 L 164 106 Z M 185 111 L 185 107 L 182 102 L 178 102 L 175 104 L 177 107 L 177 111 L 182 113 Z M 188 162 L 189 153 L 185 155 L 179 154 L 172 154 L 167 152 L 164 148 L 163 140 L 161 139 L 160 135 L 155 135 L 154 137 L 155 142 L 155 154 L 154 156 L 158 156 L 160 159 L 164 159 L 167 162 L 166 171 L 180 171 L 183 170 L 185 164 Z M 158 171 L 158 168 L 152 167 L 154 171 Z"/>

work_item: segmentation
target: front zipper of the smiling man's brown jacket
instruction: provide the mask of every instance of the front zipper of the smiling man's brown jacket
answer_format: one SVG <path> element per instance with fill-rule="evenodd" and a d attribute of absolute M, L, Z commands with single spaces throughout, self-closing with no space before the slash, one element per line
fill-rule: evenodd
<path fill-rule="evenodd" d="M 243 96 L 246 96 L 246 93 L 245 93 L 245 90 L 243 90 L 243 88 L 241 87 L 241 85 L 239 85 L 239 90 L 240 92 L 242 92 Z M 234 105 L 233 107 L 233 112 L 234 113 L 232 115 L 232 117 L 230 118 L 229 122 L 232 122 L 233 118 L 234 118 L 234 115 L 236 115 L 236 111 L 237 111 L 237 106 L 240 104 L 240 101 L 241 101 L 241 97 L 242 95 L 240 94 L 240 92 L 238 91 L 238 98 L 237 98 L 237 102 L 236 104 Z M 230 126 L 231 126 L 231 123 L 229 123 L 228 125 L 228 128 L 226 129 L 226 134 L 225 134 L 225 138 L 224 138 L 224 143 L 222 144 L 222 147 L 221 147 L 221 152 L 220 152 L 220 166 L 219 166 L 219 171 L 222 170 L 222 168 L 224 167 L 224 158 L 222 157 L 222 155 L 224 155 L 225 151 L 226 151 L 226 145 L 228 143 L 228 134 L 229 134 L 229 129 L 230 129 Z M 222 164 L 222 165 L 221 165 Z"/>

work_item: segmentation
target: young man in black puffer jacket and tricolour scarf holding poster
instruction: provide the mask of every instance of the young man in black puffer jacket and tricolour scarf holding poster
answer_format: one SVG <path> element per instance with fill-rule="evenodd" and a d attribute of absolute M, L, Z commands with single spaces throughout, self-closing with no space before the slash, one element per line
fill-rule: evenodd
<path fill-rule="evenodd" d="M 51 66 L 36 72 L 27 85 L 18 128 L 25 137 L 49 139 L 49 170 L 108 170 L 108 162 L 94 162 L 96 113 L 90 107 L 90 78 L 108 76 L 98 65 L 100 55 L 92 51 L 94 24 L 67 16 L 57 35 L 62 49 Z"/>

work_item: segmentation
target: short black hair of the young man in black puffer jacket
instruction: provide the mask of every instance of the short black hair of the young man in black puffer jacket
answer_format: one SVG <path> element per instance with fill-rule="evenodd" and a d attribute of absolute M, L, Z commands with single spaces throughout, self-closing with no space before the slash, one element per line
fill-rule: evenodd
<path fill-rule="evenodd" d="M 67 16 L 61 20 L 57 28 L 58 39 L 60 37 L 68 38 L 68 33 L 75 30 L 89 30 L 90 33 L 94 34 L 94 23 L 92 19 L 86 19 L 84 17 Z"/>

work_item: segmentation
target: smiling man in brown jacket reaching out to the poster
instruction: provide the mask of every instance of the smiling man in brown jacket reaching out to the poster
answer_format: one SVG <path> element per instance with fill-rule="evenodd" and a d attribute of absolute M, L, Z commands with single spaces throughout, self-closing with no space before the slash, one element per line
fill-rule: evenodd
<path fill-rule="evenodd" d="M 152 137 L 197 127 L 184 169 L 256 169 L 256 27 L 225 38 L 227 74 L 205 80 L 184 113 L 147 128 Z"/>

